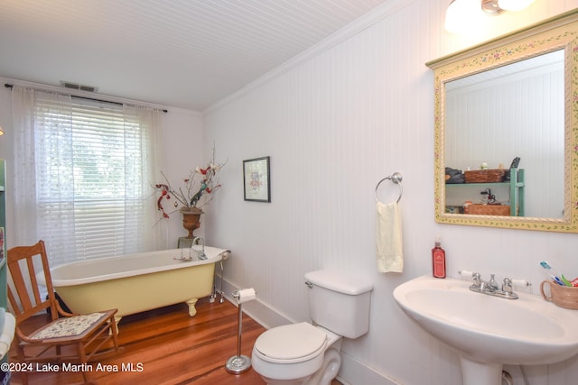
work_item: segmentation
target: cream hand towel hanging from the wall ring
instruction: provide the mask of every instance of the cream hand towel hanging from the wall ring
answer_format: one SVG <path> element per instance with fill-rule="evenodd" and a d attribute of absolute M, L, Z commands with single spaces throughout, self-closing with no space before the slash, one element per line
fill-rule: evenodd
<path fill-rule="evenodd" d="M 387 205 L 378 202 L 376 217 L 376 258 L 379 272 L 402 272 L 401 213 L 397 202 Z"/>

